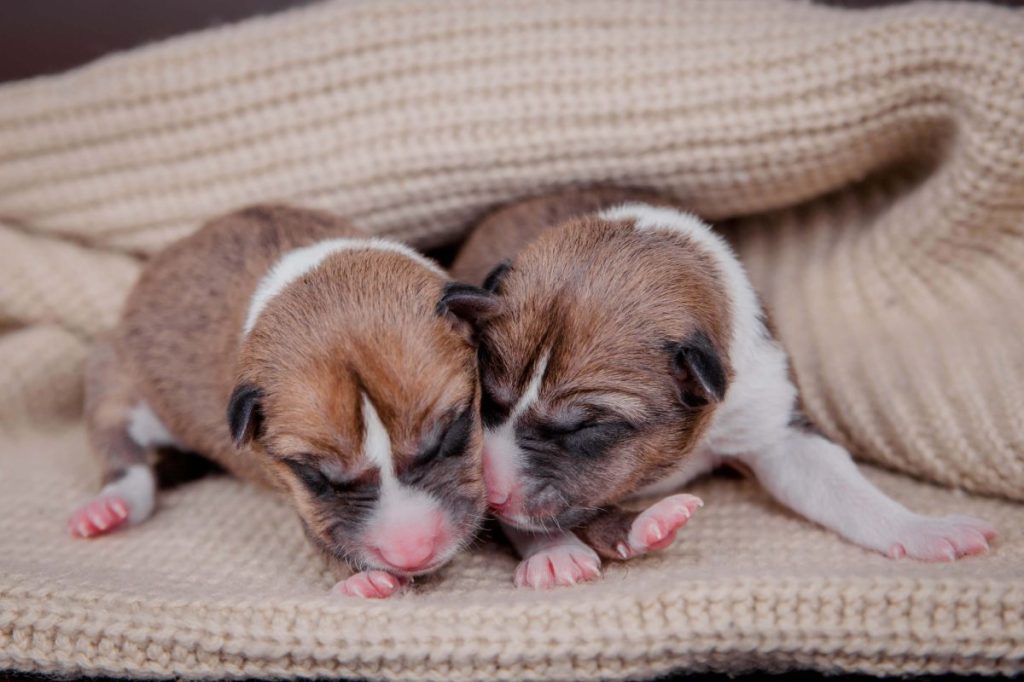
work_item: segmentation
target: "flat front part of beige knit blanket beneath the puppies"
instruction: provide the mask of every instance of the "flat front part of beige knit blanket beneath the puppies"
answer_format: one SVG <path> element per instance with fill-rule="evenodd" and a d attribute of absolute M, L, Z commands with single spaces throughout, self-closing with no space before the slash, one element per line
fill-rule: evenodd
<path fill-rule="evenodd" d="M 0 445 L 0 670 L 188 678 L 636 679 L 672 669 L 1024 671 L 1024 506 L 870 472 L 923 512 L 989 519 L 992 551 L 891 561 L 773 504 L 753 483 L 665 553 L 592 585 L 512 586 L 481 544 L 393 601 L 332 598 L 334 577 L 284 502 L 228 477 L 166 493 L 144 525 L 74 540 L 95 492 L 80 430 Z"/>

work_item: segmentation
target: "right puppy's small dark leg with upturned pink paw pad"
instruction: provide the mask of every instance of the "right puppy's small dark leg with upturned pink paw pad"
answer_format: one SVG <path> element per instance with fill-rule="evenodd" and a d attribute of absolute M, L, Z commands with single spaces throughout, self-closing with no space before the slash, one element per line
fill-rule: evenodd
<path fill-rule="evenodd" d="M 703 507 L 700 498 L 673 495 L 642 512 L 611 509 L 578 532 L 584 542 L 607 559 L 632 559 L 674 543 L 676 534 L 700 507 Z"/>

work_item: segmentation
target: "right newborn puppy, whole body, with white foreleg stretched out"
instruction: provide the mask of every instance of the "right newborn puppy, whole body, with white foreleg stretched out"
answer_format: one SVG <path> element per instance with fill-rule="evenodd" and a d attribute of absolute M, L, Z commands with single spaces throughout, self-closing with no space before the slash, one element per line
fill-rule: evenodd
<path fill-rule="evenodd" d="M 487 501 L 523 557 L 516 583 L 572 584 L 598 574 L 598 554 L 665 547 L 699 501 L 615 505 L 723 464 L 894 558 L 985 551 L 988 524 L 907 510 L 809 426 L 728 245 L 665 201 L 637 199 L 575 191 L 513 206 L 453 267 L 470 282 L 494 268 L 484 289 L 501 303 L 475 328 Z"/>

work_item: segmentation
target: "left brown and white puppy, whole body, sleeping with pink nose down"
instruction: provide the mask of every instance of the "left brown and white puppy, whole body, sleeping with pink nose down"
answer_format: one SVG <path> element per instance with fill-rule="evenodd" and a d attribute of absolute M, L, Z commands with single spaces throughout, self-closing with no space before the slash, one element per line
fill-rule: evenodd
<path fill-rule="evenodd" d="M 447 561 L 484 511 L 460 317 L 480 301 L 327 213 L 210 222 L 146 265 L 92 356 L 86 412 L 106 485 L 72 532 L 150 516 L 154 450 L 170 445 L 287 494 L 313 544 L 364 571 L 339 590 L 388 596 Z"/>

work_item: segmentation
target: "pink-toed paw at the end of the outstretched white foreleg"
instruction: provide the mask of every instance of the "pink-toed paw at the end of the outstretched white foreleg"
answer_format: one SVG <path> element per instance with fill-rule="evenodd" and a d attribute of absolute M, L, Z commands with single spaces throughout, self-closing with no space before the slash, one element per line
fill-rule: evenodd
<path fill-rule="evenodd" d="M 922 561 L 953 561 L 963 556 L 988 551 L 988 541 L 995 529 L 973 516 L 919 516 L 902 523 L 888 555 L 893 559 L 904 556 Z"/>

